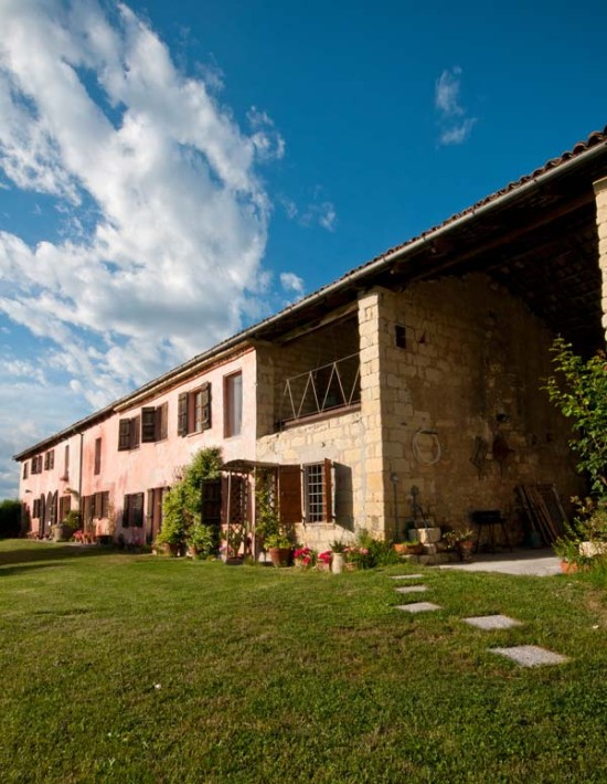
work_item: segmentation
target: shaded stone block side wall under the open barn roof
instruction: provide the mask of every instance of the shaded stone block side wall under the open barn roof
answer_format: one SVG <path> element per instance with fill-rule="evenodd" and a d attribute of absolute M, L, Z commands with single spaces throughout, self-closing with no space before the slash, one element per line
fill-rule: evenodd
<path fill-rule="evenodd" d="M 514 529 L 515 485 L 554 483 L 565 501 L 581 491 L 568 425 L 541 389 L 553 336 L 521 301 L 483 275 L 382 292 L 380 301 L 381 441 L 400 517 L 411 517 L 414 486 L 437 525 L 465 527 L 471 510 L 499 508 Z"/>

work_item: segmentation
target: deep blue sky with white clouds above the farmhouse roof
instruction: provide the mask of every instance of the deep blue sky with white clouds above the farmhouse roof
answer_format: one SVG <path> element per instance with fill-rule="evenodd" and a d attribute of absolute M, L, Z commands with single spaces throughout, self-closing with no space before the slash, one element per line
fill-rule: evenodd
<path fill-rule="evenodd" d="M 607 124 L 607 7 L 2 0 L 11 455 Z"/>

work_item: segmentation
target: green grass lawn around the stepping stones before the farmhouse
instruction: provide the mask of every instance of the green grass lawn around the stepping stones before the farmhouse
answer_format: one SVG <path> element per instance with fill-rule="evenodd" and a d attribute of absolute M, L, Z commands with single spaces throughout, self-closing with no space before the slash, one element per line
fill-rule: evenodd
<path fill-rule="evenodd" d="M 606 592 L 406 570 L 0 542 L 0 781 L 606 782 Z M 523 625 L 461 622 L 493 613 Z M 571 660 L 489 651 L 518 644 Z"/>

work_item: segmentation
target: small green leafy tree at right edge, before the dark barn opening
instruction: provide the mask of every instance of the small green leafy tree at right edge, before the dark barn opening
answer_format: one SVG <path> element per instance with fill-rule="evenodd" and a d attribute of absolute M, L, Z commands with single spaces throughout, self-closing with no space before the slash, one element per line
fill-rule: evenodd
<path fill-rule="evenodd" d="M 607 359 L 599 352 L 588 360 L 557 338 L 551 349 L 556 374 L 545 389 L 551 401 L 572 421 L 576 437 L 569 442 L 598 497 L 607 495 Z"/>

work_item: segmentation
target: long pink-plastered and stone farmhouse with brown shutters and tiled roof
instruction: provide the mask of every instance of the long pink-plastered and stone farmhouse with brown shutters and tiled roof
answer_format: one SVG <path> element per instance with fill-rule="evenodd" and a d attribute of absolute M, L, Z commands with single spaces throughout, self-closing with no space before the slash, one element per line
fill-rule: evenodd
<path fill-rule="evenodd" d="M 253 530 L 262 468 L 310 545 L 400 537 L 412 498 L 455 528 L 499 509 L 520 540 L 519 484 L 554 483 L 565 505 L 581 490 L 542 380 L 556 335 L 604 348 L 601 269 L 607 128 L 21 452 L 30 531 L 79 509 L 97 533 L 151 541 L 175 470 L 219 446 L 216 523 Z"/>

